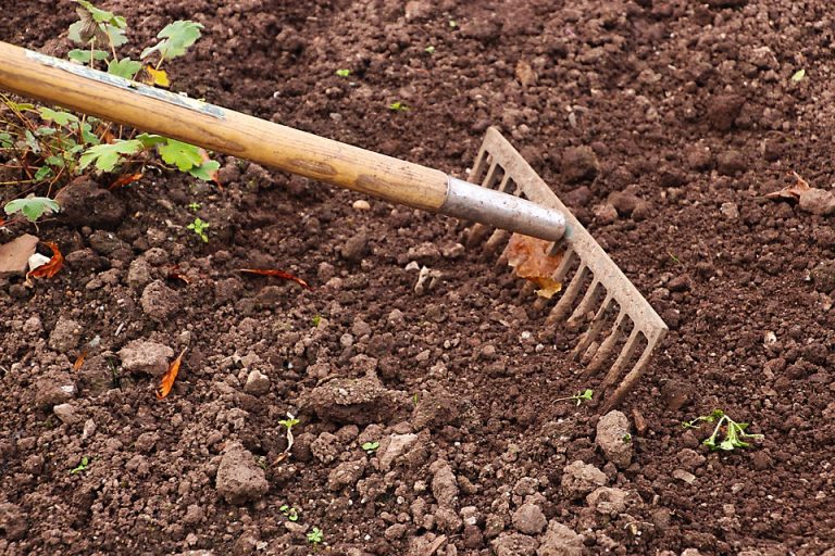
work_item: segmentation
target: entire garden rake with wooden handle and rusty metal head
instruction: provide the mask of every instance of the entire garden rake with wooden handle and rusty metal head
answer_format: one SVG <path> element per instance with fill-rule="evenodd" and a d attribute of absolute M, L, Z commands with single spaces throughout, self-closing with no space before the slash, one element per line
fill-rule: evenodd
<path fill-rule="evenodd" d="M 494 252 L 512 232 L 549 241 L 552 254 L 562 253 L 553 279 L 568 279 L 568 286 L 549 308 L 548 323 L 569 317 L 572 326 L 587 324 L 572 353 L 588 363 L 587 379 L 613 361 L 598 387 L 605 393 L 605 408 L 623 401 L 666 332 L 647 300 L 496 129 L 487 131 L 470 180 L 464 181 L 4 42 L 0 42 L 0 87 L 386 201 L 474 222 L 469 243 L 483 243 Z M 605 339 L 598 341 L 600 337 Z"/>

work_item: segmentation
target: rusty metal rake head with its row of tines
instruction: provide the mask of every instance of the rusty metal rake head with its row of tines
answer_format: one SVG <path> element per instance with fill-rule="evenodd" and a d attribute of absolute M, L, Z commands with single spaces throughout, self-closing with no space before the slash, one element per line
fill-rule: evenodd
<path fill-rule="evenodd" d="M 583 378 L 588 380 L 597 379 L 610 364 L 597 391 L 603 394 L 605 412 L 616 407 L 643 375 L 652 351 L 666 333 L 666 325 L 548 185 L 495 128 L 487 130 L 470 181 L 557 208 L 565 216 L 565 236 L 551 245 L 550 254 L 562 254 L 562 262 L 552 278 L 566 286 L 556 303 L 538 298 L 536 304 L 539 308 L 548 307 L 549 325 L 568 317 L 565 324 L 570 328 L 587 326 L 571 357 L 585 364 Z M 483 245 L 488 253 L 497 253 L 509 238 L 508 231 L 475 224 L 469 230 L 468 247 Z M 533 291 L 529 282 L 525 288 Z"/>

